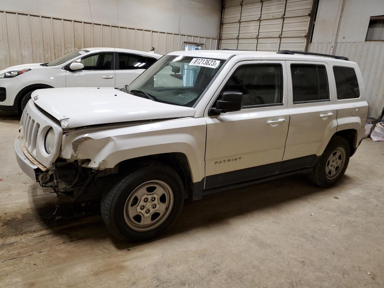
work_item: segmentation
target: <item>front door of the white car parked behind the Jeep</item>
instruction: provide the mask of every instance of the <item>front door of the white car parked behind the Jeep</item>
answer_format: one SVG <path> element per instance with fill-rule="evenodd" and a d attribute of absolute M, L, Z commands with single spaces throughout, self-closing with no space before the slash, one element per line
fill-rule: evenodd
<path fill-rule="evenodd" d="M 114 52 L 95 53 L 76 62 L 82 63 L 84 69 L 66 71 L 66 87 L 115 86 Z"/>

